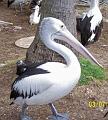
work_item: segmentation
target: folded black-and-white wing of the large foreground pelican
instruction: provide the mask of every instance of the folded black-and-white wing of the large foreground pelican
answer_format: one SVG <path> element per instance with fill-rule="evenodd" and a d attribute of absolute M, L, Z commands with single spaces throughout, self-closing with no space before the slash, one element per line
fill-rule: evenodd
<path fill-rule="evenodd" d="M 36 68 L 36 71 L 25 72 L 23 75 L 16 78 L 11 88 L 10 99 L 22 97 L 23 99 L 30 98 L 33 95 L 40 94 L 50 88 L 53 82 L 50 81 L 50 72 Z"/>

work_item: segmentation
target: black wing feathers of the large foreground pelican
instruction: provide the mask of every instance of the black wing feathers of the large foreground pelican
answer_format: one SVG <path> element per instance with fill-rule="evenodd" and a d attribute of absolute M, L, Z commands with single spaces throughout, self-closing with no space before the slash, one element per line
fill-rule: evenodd
<path fill-rule="evenodd" d="M 46 73 L 50 73 L 49 71 L 47 70 L 44 70 L 44 69 L 41 69 L 41 68 L 37 68 L 37 67 L 30 67 L 29 69 L 27 69 L 24 73 L 22 73 L 21 75 L 19 75 L 15 81 L 13 82 L 12 86 L 11 86 L 11 94 L 10 94 L 10 99 L 16 99 L 17 97 L 22 97 L 22 98 L 30 98 L 32 97 L 33 95 L 37 95 L 39 93 L 39 91 L 34 91 L 31 92 L 31 89 L 30 89 L 30 93 L 29 93 L 29 96 L 26 94 L 24 94 L 24 92 L 19 92 L 18 89 L 15 89 L 14 88 L 14 85 L 17 84 L 17 82 L 19 82 L 20 80 L 22 80 L 23 78 L 25 77 L 30 77 L 32 75 L 37 75 L 37 74 L 46 74 Z"/>

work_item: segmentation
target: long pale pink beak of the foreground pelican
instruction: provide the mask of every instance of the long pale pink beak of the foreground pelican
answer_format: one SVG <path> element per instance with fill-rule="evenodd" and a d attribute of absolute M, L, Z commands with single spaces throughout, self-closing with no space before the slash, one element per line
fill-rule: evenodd
<path fill-rule="evenodd" d="M 67 42 L 84 57 L 103 68 L 103 66 L 99 64 L 99 62 L 91 55 L 91 53 L 67 29 L 58 31 L 55 34 L 57 39 L 59 38 L 60 40 Z"/>

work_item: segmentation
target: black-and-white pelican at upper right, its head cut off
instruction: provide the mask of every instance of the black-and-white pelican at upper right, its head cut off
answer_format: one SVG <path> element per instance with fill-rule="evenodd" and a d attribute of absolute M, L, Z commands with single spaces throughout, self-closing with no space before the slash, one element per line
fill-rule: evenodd
<path fill-rule="evenodd" d="M 80 24 L 81 43 L 86 46 L 96 42 L 101 35 L 102 26 L 103 19 L 99 9 L 99 0 L 91 0 L 90 9 L 84 13 Z"/>

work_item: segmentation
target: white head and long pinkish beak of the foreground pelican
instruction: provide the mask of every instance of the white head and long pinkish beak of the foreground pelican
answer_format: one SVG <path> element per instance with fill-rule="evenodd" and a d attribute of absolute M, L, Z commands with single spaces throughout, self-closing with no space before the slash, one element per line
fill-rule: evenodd
<path fill-rule="evenodd" d="M 41 40 L 48 48 L 51 49 L 51 44 L 55 39 L 65 41 L 80 54 L 102 67 L 90 52 L 68 31 L 61 20 L 52 17 L 44 18 L 40 24 L 39 34 Z"/>

